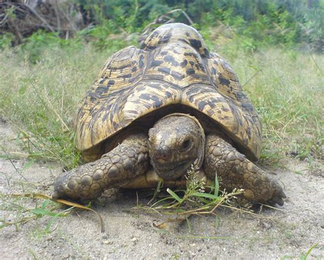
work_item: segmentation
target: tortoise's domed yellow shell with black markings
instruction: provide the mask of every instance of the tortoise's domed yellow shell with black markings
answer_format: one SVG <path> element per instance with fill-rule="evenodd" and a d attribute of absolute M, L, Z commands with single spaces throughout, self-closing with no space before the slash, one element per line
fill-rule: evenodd
<path fill-rule="evenodd" d="M 98 153 L 103 141 L 118 140 L 139 118 L 174 104 L 207 116 L 249 159 L 260 156 L 260 119 L 237 75 L 182 23 L 162 25 L 140 49 L 128 47 L 109 58 L 78 110 L 77 148 Z"/>

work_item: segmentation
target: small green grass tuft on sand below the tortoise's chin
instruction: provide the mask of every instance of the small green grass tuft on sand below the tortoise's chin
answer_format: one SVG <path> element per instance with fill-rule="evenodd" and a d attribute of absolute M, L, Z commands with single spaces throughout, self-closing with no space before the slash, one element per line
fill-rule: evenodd
<path fill-rule="evenodd" d="M 146 211 L 152 211 L 153 213 L 176 215 L 178 217 L 176 221 L 186 220 L 188 229 L 191 231 L 190 216 L 216 216 L 215 210 L 219 207 L 236 209 L 235 206 L 237 206 L 238 197 L 243 194 L 243 190 L 234 189 L 232 192 L 219 191 L 217 177 L 215 181 L 206 183 L 198 179 L 198 170 L 199 169 L 195 166 L 191 166 L 191 168 L 187 170 L 187 187 L 185 190 L 173 191 L 167 188 L 166 192 L 161 192 L 159 198 L 156 198 L 157 194 L 161 191 L 161 185 L 159 183 L 157 192 L 154 192 L 152 200 L 148 203 L 149 206 L 139 207 L 139 205 L 137 205 L 137 211 L 141 208 Z M 248 209 L 249 206 L 250 205 L 242 205 L 243 208 L 238 210 L 245 213 L 252 213 Z M 171 222 L 173 222 L 173 220 L 171 220 Z M 159 226 L 164 226 L 165 224 L 166 222 Z M 160 228 L 159 226 L 155 227 Z"/>

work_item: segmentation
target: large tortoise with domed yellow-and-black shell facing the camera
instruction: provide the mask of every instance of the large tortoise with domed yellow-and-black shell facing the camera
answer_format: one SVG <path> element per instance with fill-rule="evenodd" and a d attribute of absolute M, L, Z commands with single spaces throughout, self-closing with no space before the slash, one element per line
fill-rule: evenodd
<path fill-rule="evenodd" d="M 191 165 L 243 199 L 283 205 L 282 187 L 252 161 L 262 126 L 237 75 L 202 36 L 172 23 L 140 49 L 113 54 L 81 102 L 77 148 L 87 164 L 62 173 L 53 199 L 86 201 L 109 187 L 183 185 Z"/>

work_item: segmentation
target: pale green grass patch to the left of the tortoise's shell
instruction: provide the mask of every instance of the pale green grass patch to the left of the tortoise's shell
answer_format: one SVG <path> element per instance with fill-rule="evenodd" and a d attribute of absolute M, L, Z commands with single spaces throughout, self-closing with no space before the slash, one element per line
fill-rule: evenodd
<path fill-rule="evenodd" d="M 52 49 L 31 64 L 14 50 L 0 53 L 0 113 L 16 127 L 30 157 L 67 168 L 79 163 L 73 117 L 109 55 L 90 47 Z"/>

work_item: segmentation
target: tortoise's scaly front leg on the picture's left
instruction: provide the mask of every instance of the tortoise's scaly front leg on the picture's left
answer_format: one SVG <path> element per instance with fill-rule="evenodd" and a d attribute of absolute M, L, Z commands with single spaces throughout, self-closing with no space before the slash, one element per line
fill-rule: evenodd
<path fill-rule="evenodd" d="M 62 173 L 54 183 L 53 199 L 86 201 L 109 187 L 126 184 L 148 168 L 148 137 L 129 135 L 100 159 Z"/>

